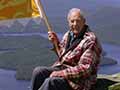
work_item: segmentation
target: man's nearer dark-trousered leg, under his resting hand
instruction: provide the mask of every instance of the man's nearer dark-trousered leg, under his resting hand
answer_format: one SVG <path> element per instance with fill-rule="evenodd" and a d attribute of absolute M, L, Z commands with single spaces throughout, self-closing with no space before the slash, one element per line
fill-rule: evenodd
<path fill-rule="evenodd" d="M 68 82 L 61 77 L 49 77 L 38 90 L 72 90 Z"/>

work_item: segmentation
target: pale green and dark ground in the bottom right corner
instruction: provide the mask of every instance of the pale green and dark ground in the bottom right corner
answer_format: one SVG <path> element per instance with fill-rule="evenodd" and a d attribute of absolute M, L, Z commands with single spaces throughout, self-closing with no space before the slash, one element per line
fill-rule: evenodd
<path fill-rule="evenodd" d="M 95 90 L 120 90 L 120 73 L 98 75 Z"/>

